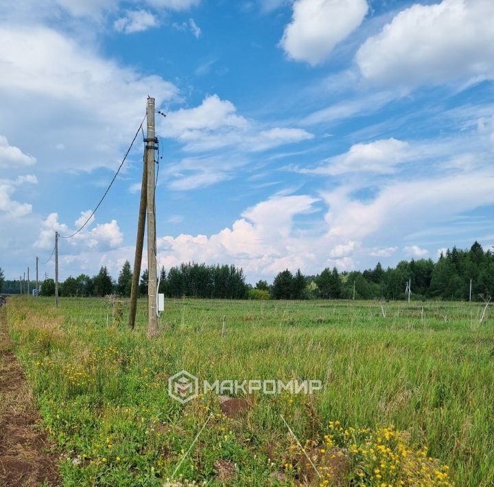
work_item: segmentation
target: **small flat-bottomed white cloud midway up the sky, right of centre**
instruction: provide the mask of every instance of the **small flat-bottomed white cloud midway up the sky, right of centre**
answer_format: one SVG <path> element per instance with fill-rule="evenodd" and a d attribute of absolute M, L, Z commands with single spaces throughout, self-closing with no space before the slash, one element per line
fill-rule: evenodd
<path fill-rule="evenodd" d="M 349 152 L 326 159 L 325 165 L 316 169 L 294 170 L 302 174 L 338 174 L 370 172 L 393 174 L 396 166 L 412 157 L 410 145 L 397 139 L 384 139 L 366 144 L 352 145 Z"/>

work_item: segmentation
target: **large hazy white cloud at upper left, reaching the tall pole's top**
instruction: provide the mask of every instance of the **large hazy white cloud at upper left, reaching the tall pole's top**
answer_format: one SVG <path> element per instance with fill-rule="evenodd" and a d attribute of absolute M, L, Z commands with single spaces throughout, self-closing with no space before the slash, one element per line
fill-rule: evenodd
<path fill-rule="evenodd" d="M 0 131 L 29 133 L 23 152 L 36 150 L 45 169 L 115 168 L 148 93 L 157 106 L 177 97 L 174 84 L 121 67 L 47 27 L 0 25 L 0 45 Z M 15 115 L 26 112 L 30 117 Z M 47 117 L 51 123 L 39 123 Z M 70 157 L 56 149 L 60 140 Z"/>

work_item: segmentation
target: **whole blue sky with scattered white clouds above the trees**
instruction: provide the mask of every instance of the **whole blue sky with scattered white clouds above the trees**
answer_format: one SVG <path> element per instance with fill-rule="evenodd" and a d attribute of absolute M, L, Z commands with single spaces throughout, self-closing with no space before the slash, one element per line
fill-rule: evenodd
<path fill-rule="evenodd" d="M 255 282 L 492 246 L 493 21 L 491 0 L 4 0 L 0 267 L 78 228 L 148 95 L 165 268 Z M 142 150 L 61 241 L 61 278 L 132 262 Z"/>

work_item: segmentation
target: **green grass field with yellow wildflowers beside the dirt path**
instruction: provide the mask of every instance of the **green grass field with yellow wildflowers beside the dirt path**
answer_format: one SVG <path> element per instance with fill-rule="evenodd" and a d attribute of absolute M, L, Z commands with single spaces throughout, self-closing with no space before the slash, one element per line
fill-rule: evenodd
<path fill-rule="evenodd" d="M 480 304 L 384 303 L 384 318 L 369 301 L 168 300 L 154 340 L 145 302 L 133 332 L 127 309 L 8 301 L 16 353 L 67 453 L 67 486 L 494 485 L 494 322 L 488 310 L 479 323 Z M 169 397 L 182 369 L 324 388 L 257 392 L 230 418 L 214 393 L 186 405 Z"/>

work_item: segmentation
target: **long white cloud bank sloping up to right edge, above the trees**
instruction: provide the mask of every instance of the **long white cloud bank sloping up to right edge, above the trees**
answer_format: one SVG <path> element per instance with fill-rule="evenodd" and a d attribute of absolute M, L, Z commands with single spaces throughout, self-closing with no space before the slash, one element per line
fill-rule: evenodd
<path fill-rule="evenodd" d="M 329 237 L 405 236 L 451 215 L 494 204 L 494 177 L 486 171 L 388 182 L 372 202 L 352 200 L 354 190 L 342 186 L 322 193 L 329 205 L 325 217 Z"/>

